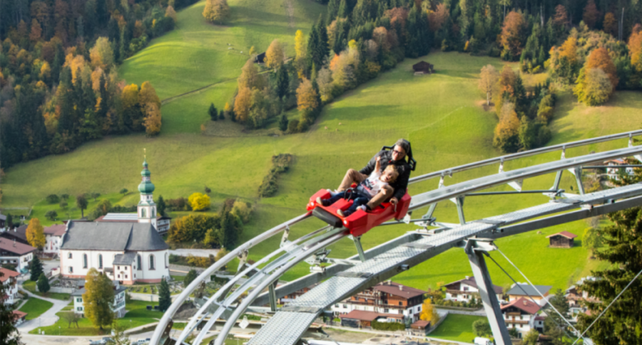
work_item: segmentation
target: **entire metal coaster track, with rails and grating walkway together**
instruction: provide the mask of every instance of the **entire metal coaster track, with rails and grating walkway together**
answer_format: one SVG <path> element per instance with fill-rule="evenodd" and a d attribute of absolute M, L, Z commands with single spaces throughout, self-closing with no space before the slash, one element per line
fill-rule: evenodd
<path fill-rule="evenodd" d="M 642 161 L 642 147 L 634 147 L 632 140 L 633 136 L 640 134 L 642 134 L 642 130 L 613 134 L 594 139 L 586 139 L 579 142 L 569 142 L 552 147 L 544 147 L 527 152 L 519 152 L 517 154 L 486 159 L 484 161 L 464 164 L 451 169 L 444 169 L 414 177 L 410 179 L 409 184 L 427 181 L 428 179 L 433 179 L 434 177 L 439 176 L 439 187 L 432 191 L 419 193 L 416 196 L 413 196 L 409 206 L 409 214 L 404 221 L 406 223 L 411 221 L 410 214 L 412 214 L 412 211 L 429 206 L 428 212 L 422 216 L 422 219 L 420 219 L 417 224 L 423 226 L 439 224 L 436 223 L 432 217 L 434 208 L 439 201 L 451 199 L 457 203 L 460 224 L 445 225 L 442 226 L 442 228 L 425 233 L 414 232 L 403 235 L 389 241 L 388 243 L 384 243 L 372 248 L 371 250 L 367 250 L 362 258 L 363 262 L 355 260 L 357 259 L 355 256 L 347 260 L 325 258 L 327 256 L 327 252 L 325 252 L 324 249 L 328 245 L 336 243 L 338 240 L 349 235 L 345 228 L 330 228 L 330 226 L 326 226 L 319 230 L 315 230 L 312 233 L 308 233 L 301 238 L 293 240 L 292 242 L 287 240 L 290 226 L 304 221 L 311 216 L 311 212 L 304 213 L 297 218 L 293 218 L 290 221 L 277 225 L 274 228 L 261 233 L 252 240 L 243 243 L 243 245 L 240 245 L 238 248 L 228 253 L 228 255 L 225 255 L 225 257 L 221 258 L 218 262 L 215 262 L 214 265 L 208 267 L 208 269 L 201 273 L 199 277 L 188 285 L 188 287 L 185 287 L 185 290 L 178 295 L 170 308 L 165 312 L 154 331 L 151 344 L 168 344 L 165 341 L 175 341 L 176 344 L 184 344 L 183 341 L 185 338 L 189 336 L 199 324 L 205 322 L 205 326 L 199 332 L 196 339 L 191 343 L 193 345 L 198 345 L 205 337 L 206 331 L 210 329 L 216 319 L 220 317 L 223 317 L 223 319 L 226 319 L 227 321 L 225 322 L 223 329 L 218 334 L 215 344 L 223 344 L 225 337 L 232 329 L 238 317 L 240 317 L 240 315 L 250 307 L 250 304 L 265 304 L 269 301 L 272 309 L 275 310 L 275 299 L 277 298 L 277 295 L 283 296 L 296 290 L 300 290 L 302 287 L 310 286 L 315 282 L 320 282 L 327 277 L 331 277 L 330 280 L 323 282 L 307 294 L 303 294 L 301 297 L 297 298 L 294 302 L 291 302 L 287 306 L 279 309 L 275 316 L 270 319 L 270 322 L 268 322 L 265 327 L 263 327 L 263 329 L 261 329 L 258 334 L 250 340 L 249 343 L 251 345 L 295 344 L 296 341 L 300 339 L 302 333 L 312 323 L 312 320 L 314 320 L 324 308 L 334 304 L 340 299 L 349 297 L 355 292 L 397 275 L 400 270 L 407 270 L 409 267 L 417 265 L 417 263 L 423 262 L 424 260 L 428 260 L 449 248 L 453 248 L 455 246 L 467 246 L 467 250 L 472 250 L 471 248 L 473 248 L 475 243 L 477 243 L 477 241 L 472 240 L 472 238 L 481 234 L 484 235 L 484 238 L 499 238 L 505 235 L 512 235 L 514 233 L 555 225 L 560 222 L 565 223 L 586 218 L 598 212 L 607 212 L 605 210 L 616 211 L 618 209 L 640 205 L 642 204 L 642 197 L 636 196 L 642 195 L 641 184 L 609 189 L 607 191 L 591 194 L 585 194 L 581 185 L 582 166 L 587 166 L 598 161 L 603 162 L 609 159 L 617 159 L 627 156 L 635 156 L 638 160 Z M 615 149 L 607 152 L 598 152 L 585 156 L 566 158 L 567 148 L 581 147 L 587 144 L 607 142 L 627 137 L 629 139 L 628 147 L 625 149 Z M 562 152 L 561 159 L 558 161 L 551 161 L 535 166 L 527 166 L 526 168 L 516 169 L 513 171 L 504 171 L 504 161 L 560 150 Z M 498 174 L 463 181 L 459 184 L 453 184 L 452 186 L 444 186 L 445 176 L 452 176 L 452 174 L 456 172 L 497 163 L 499 163 Z M 561 173 L 564 170 L 569 170 L 571 171 L 571 174 L 576 176 L 576 181 L 578 181 L 579 192 L 581 195 L 575 196 L 573 194 L 564 193 L 564 191 L 559 189 Z M 541 176 L 553 172 L 557 173 L 553 187 L 549 190 L 542 191 L 542 193 L 551 197 L 551 199 L 556 198 L 556 196 L 565 196 L 566 198 L 554 200 L 554 202 L 546 203 L 544 205 L 506 213 L 501 216 L 494 216 L 468 223 L 465 221 L 463 201 L 466 196 L 472 196 L 477 191 L 502 184 L 509 184 L 509 186 L 512 186 L 517 190 L 514 193 L 526 192 L 521 190 L 521 181 L 534 176 Z M 626 200 L 615 201 L 623 198 L 626 198 Z M 595 203 L 608 203 L 608 205 L 593 208 L 593 204 Z M 532 218 L 546 216 L 551 213 L 571 211 L 574 208 L 590 208 L 590 210 L 587 211 L 582 209 L 581 211 L 566 213 L 561 216 L 544 218 L 544 220 L 504 226 Z M 285 231 L 285 233 L 283 234 L 280 248 L 243 270 L 248 250 L 255 245 L 263 243 L 263 241 L 271 238 L 273 235 L 281 233 L 282 231 Z M 287 270 L 312 255 L 315 255 L 317 259 L 325 260 L 324 262 L 333 262 L 334 265 L 325 267 L 321 272 L 314 272 L 282 287 L 275 287 L 275 282 L 277 282 L 277 280 L 287 272 Z M 190 319 L 190 322 L 188 322 L 185 329 L 181 332 L 180 336 L 178 336 L 178 339 L 169 339 L 169 330 L 171 327 L 170 320 L 178 310 L 178 307 L 183 304 L 185 299 L 188 299 L 189 295 L 198 288 L 198 285 L 200 285 L 201 282 L 208 281 L 210 275 L 237 257 L 241 259 L 238 274 L 230 279 L 225 286 L 211 297 L 206 300 L 199 300 L 198 304 L 200 304 L 200 309 L 194 317 Z M 270 262 L 270 260 L 272 261 Z M 260 267 L 261 265 L 264 265 L 264 267 Z M 233 290 L 233 287 L 235 287 L 235 285 L 239 285 L 240 279 L 246 275 L 249 276 L 249 278 Z M 266 287 L 269 288 L 269 292 L 262 294 Z M 243 297 L 245 294 L 247 294 L 247 296 Z M 491 326 L 492 325 L 493 322 L 491 322 Z"/>

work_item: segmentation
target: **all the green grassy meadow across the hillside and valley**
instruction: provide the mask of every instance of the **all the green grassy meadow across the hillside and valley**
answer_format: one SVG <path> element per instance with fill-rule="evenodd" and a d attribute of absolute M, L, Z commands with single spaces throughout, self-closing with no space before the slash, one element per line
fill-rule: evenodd
<path fill-rule="evenodd" d="M 143 149 L 146 149 L 156 197 L 187 197 L 194 192 L 203 192 L 206 185 L 213 191 L 211 211 L 216 211 L 225 198 L 252 202 L 255 216 L 243 230 L 241 240 L 245 241 L 305 213 L 305 203 L 312 193 L 335 188 L 346 169 L 360 169 L 380 147 L 394 143 L 399 137 L 412 142 L 418 161 L 413 176 L 499 155 L 491 144 L 496 116 L 481 106 L 485 95 L 477 90 L 477 78 L 483 65 L 490 63 L 500 68 L 502 62 L 459 53 L 434 52 L 421 59 L 405 60 L 397 68 L 327 105 L 306 133 L 274 136 L 270 135 L 275 133 L 270 129 L 242 131 L 238 124 L 229 120 L 209 122 L 208 105 L 215 102 L 217 107 L 222 107 L 233 95 L 235 83 L 222 82 L 240 74 L 250 46 L 263 51 L 272 39 L 279 38 L 289 43 L 287 51 L 292 53 L 295 30 L 301 28 L 307 32 L 322 6 L 302 0 L 284 4 L 274 0 L 231 0 L 233 19 L 230 24 L 211 26 L 200 16 L 203 4 L 201 1 L 181 11 L 178 28 L 129 58 L 121 68 L 121 75 L 128 83 L 151 80 L 161 99 L 212 86 L 166 101 L 162 108 L 163 129 L 156 138 L 141 134 L 108 137 L 83 144 L 68 154 L 47 156 L 12 167 L 6 171 L 2 184 L 3 207 L 33 206 L 33 214 L 41 216 L 41 221 L 46 223 L 44 213 L 49 209 L 56 209 L 61 215 L 58 205 L 44 204 L 44 198 L 50 193 L 73 196 L 97 191 L 113 204 L 133 205 L 138 201 L 136 186 L 140 182 Z M 434 64 L 437 73 L 414 76 L 411 67 L 419 60 Z M 641 108 L 642 100 L 634 92 L 618 92 L 603 107 L 584 107 L 577 105 L 568 91 L 562 91 L 556 118 L 551 124 L 554 136 L 549 144 L 636 129 L 640 125 L 636 115 Z M 289 112 L 288 116 L 294 118 L 297 114 Z M 203 135 L 200 124 L 205 122 L 208 122 L 208 129 Z M 620 140 L 572 149 L 566 154 L 588 154 L 595 149 L 625 145 L 626 140 Z M 295 163 L 287 174 L 281 175 L 276 196 L 258 198 L 258 186 L 270 169 L 271 156 L 279 153 L 293 154 Z M 552 159 L 559 159 L 559 152 L 510 161 L 504 168 L 517 169 Z M 487 166 L 466 171 L 445 182 L 454 184 L 482 174 L 494 174 L 497 169 L 498 166 Z M 437 183 L 434 179 L 412 185 L 409 193 L 414 195 L 435 189 Z M 524 188 L 544 189 L 552 183 L 553 176 L 541 176 L 526 181 Z M 562 188 L 569 191 L 574 184 L 570 174 L 565 174 Z M 120 196 L 118 191 L 123 188 L 131 192 Z M 495 190 L 509 190 L 509 187 Z M 467 220 L 474 220 L 547 201 L 539 195 L 477 197 L 468 198 L 464 210 Z M 62 214 L 76 217 L 79 211 L 73 209 L 75 203 L 71 200 L 68 203 L 69 210 Z M 92 204 L 93 201 L 88 211 Z M 422 211 L 425 212 L 416 211 L 414 216 L 421 216 Z M 436 216 L 439 221 L 456 222 L 454 204 L 439 203 Z M 290 236 L 295 238 L 322 226 L 321 221 L 310 219 L 295 225 Z M 578 221 L 543 229 L 541 234 L 532 232 L 505 238 L 497 244 L 534 283 L 564 288 L 600 265 L 588 260 L 587 251 L 581 248 L 582 231 L 587 226 L 586 221 Z M 415 230 L 415 227 L 374 228 L 362 242 L 365 248 L 371 248 L 409 230 Z M 546 235 L 561 230 L 579 235 L 575 248 L 548 248 Z M 270 253 L 278 247 L 279 240 L 280 237 L 272 238 L 253 248 L 250 258 L 258 260 Z M 332 246 L 333 257 L 345 258 L 354 254 L 354 246 L 349 240 Z M 516 280 L 524 281 L 515 270 L 507 267 L 507 262 L 498 261 Z M 498 267 L 492 263 L 489 267 L 496 285 L 509 285 L 509 277 Z M 307 265 L 298 265 L 284 278 L 293 279 L 307 272 Z M 470 274 L 462 250 L 452 249 L 394 280 L 427 289 Z"/>

